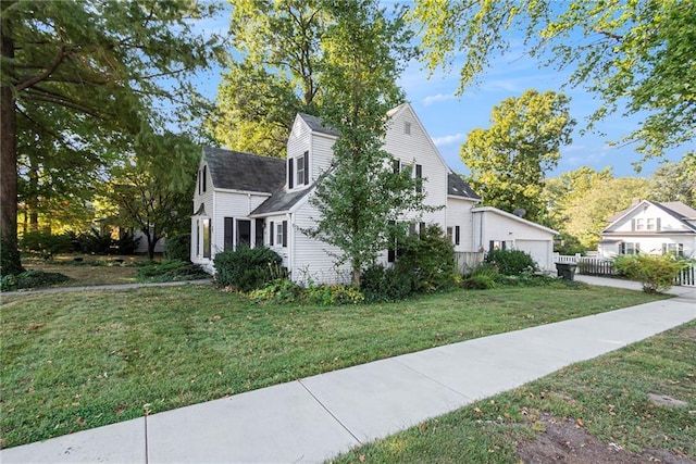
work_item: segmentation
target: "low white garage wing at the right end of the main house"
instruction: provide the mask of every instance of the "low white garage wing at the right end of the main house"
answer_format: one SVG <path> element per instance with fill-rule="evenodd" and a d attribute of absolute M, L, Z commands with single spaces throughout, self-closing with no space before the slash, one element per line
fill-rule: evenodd
<path fill-rule="evenodd" d="M 474 242 L 480 251 L 522 250 L 543 271 L 555 271 L 554 236 L 558 231 L 493 206 L 474 208 L 471 212 Z"/>

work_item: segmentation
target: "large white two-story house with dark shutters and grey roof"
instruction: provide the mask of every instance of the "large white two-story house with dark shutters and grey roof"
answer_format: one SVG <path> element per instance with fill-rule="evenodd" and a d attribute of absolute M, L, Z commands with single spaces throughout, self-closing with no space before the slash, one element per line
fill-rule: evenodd
<path fill-rule="evenodd" d="M 418 223 L 414 217 L 403 217 L 413 221 L 412 230 L 438 224 L 459 252 L 480 251 L 486 243 L 480 237 L 506 237 L 513 248 L 529 244 L 527 240 L 539 265 L 551 269 L 547 250 L 550 254 L 554 230 L 493 208 L 480 212 L 495 220 L 476 225 L 480 197 L 447 166 L 411 105 L 403 103 L 387 116 L 384 149 L 398 160 L 398 166 L 389 168 L 409 166 L 413 176 L 423 179 L 425 203 L 443 206 L 425 213 Z M 319 118 L 298 114 L 285 159 L 204 148 L 194 195 L 191 261 L 214 272 L 215 253 L 240 244 L 263 244 L 278 252 L 296 281 L 349 281 L 349 266 L 334 264 L 340 250 L 301 231 L 311 228 L 319 214 L 309 200 L 315 183 L 331 166 L 338 136 Z M 485 233 L 477 227 L 485 227 Z M 385 264 L 394 259 L 387 250 L 381 256 Z"/>

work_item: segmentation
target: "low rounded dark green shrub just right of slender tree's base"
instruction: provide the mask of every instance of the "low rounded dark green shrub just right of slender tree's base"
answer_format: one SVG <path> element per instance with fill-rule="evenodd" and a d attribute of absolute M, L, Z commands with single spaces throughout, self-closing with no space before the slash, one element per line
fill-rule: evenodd
<path fill-rule="evenodd" d="M 412 273 L 375 264 L 363 271 L 360 289 L 368 302 L 403 300 L 413 291 Z"/>

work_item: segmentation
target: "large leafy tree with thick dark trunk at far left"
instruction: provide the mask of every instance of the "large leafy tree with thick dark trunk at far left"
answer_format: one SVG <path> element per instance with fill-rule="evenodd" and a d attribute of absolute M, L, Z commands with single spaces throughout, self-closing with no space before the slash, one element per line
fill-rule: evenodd
<path fill-rule="evenodd" d="M 190 0 L 2 2 L 0 273 L 22 268 L 16 253 L 17 147 L 25 133 L 17 133 L 17 117 L 44 123 L 41 131 L 28 135 L 52 134 L 63 149 L 85 149 L 79 138 L 90 137 L 96 126 L 97 134 L 105 135 L 100 137 L 103 145 L 123 135 L 148 143 L 164 116 L 185 117 L 187 109 L 200 108 L 191 104 L 199 100 L 191 97 L 188 79 L 220 49 L 216 37 L 194 34 L 191 21 L 216 8 Z M 70 121 L 69 130 L 38 117 L 39 109 L 49 108 L 65 112 L 58 123 Z M 64 153 L 50 153 L 60 164 Z M 158 162 L 176 167 L 171 160 Z M 103 165 L 101 160 L 98 164 Z"/>

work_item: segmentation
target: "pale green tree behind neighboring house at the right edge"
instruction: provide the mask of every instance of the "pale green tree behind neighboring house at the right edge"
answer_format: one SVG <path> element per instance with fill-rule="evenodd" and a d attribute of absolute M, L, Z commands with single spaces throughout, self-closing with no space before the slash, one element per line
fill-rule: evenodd
<path fill-rule="evenodd" d="M 650 199 L 681 201 L 696 208 L 696 155 L 660 166 L 650 177 Z"/>

